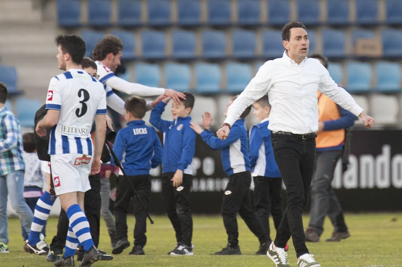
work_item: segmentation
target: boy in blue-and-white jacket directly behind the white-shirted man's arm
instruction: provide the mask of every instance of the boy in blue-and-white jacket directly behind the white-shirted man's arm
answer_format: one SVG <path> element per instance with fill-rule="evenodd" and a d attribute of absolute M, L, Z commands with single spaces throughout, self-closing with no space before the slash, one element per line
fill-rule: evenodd
<path fill-rule="evenodd" d="M 254 179 L 255 211 L 269 236 L 269 214 L 275 229 L 282 220 L 281 173 L 276 164 L 271 145 L 271 130 L 268 129 L 271 105 L 265 95 L 252 105 L 254 116 L 261 122 L 250 129 L 250 165 Z M 271 243 L 271 239 L 269 241 Z M 286 248 L 285 248 L 286 249 Z"/>

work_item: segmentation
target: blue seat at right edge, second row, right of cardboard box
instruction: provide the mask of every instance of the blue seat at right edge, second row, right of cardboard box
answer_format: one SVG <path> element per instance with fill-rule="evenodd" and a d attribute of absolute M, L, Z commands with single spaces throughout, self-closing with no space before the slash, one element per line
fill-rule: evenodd
<path fill-rule="evenodd" d="M 384 29 L 381 33 L 384 57 L 402 57 L 402 30 Z"/>

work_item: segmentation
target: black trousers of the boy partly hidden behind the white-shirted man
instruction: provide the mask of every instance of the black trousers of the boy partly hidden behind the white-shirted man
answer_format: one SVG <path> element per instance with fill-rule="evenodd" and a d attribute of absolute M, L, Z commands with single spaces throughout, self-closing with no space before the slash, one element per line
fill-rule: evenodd
<path fill-rule="evenodd" d="M 283 210 L 281 198 L 281 177 L 254 176 L 254 207 L 267 235 L 270 235 L 269 214 L 271 214 L 275 229 L 281 223 Z M 271 239 L 271 238 L 270 238 Z"/>

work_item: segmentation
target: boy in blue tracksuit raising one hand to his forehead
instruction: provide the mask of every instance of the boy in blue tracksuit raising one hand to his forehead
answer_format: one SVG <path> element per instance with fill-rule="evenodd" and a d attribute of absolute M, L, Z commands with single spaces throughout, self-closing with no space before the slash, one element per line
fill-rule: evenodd
<path fill-rule="evenodd" d="M 150 122 L 163 132 L 162 198 L 166 214 L 176 232 L 176 247 L 168 255 L 193 255 L 191 238 L 193 219 L 190 210 L 190 189 L 195 151 L 195 132 L 190 128 L 189 116 L 194 96 L 184 92 L 186 99 L 172 103 L 173 120 L 160 116 L 170 98 L 164 98 L 151 112 Z"/>

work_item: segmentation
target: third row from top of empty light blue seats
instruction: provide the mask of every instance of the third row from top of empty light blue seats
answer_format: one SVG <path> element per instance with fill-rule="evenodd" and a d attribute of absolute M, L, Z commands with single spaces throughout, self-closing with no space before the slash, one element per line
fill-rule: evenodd
<path fill-rule="evenodd" d="M 195 89 L 200 94 L 237 94 L 244 90 L 263 63 L 135 63 L 135 78 L 130 77 L 131 71 L 124 78 L 153 87 L 162 86 L 179 91 Z M 345 68 L 340 63 L 331 62 L 328 71 L 332 79 L 350 93 L 402 91 L 400 62 L 379 61 L 371 65 L 367 62 L 350 61 L 345 64 Z"/>

